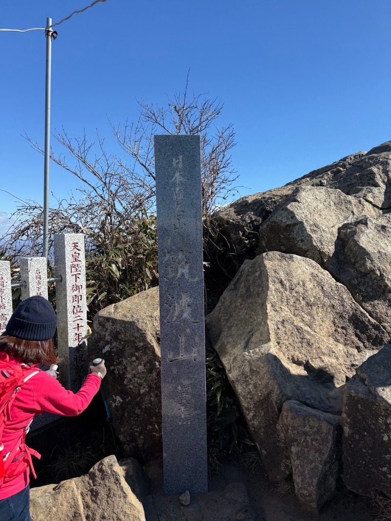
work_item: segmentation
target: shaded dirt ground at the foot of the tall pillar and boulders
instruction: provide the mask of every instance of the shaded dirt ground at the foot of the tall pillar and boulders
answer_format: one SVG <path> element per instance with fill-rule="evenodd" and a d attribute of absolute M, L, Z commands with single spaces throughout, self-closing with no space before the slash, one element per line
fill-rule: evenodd
<path fill-rule="evenodd" d="M 223 472 L 208 493 L 193 494 L 183 506 L 177 496 L 163 494 L 161 469 L 150 467 L 154 493 L 144 504 L 146 521 L 373 521 L 369 501 L 346 491 L 316 515 L 304 512 L 294 493 L 279 497 L 261 470 L 251 473 L 227 463 Z"/>

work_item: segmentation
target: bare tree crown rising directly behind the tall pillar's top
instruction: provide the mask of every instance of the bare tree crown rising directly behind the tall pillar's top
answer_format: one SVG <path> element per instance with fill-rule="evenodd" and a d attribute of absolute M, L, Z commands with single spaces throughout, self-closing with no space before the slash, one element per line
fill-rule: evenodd
<path fill-rule="evenodd" d="M 231 148 L 235 146 L 233 125 L 218 128 L 215 122 L 221 116 L 223 105 L 217 98 L 188 94 L 188 78 L 183 94 L 168 98 L 166 106 L 140 102 L 137 123 L 113 126 L 114 134 L 124 152 L 131 156 L 136 167 L 150 179 L 155 179 L 154 134 L 201 136 L 202 201 L 204 216 L 211 215 L 224 204 L 237 179 L 231 164 Z"/>

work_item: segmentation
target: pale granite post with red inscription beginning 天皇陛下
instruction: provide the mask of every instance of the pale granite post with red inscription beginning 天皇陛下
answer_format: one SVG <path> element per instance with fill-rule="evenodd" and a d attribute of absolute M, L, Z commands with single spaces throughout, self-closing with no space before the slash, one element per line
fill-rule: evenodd
<path fill-rule="evenodd" d="M 57 337 L 60 381 L 66 389 L 77 391 L 87 374 L 85 341 L 87 334 L 87 296 L 85 292 L 84 235 L 54 235 L 56 276 Z"/>

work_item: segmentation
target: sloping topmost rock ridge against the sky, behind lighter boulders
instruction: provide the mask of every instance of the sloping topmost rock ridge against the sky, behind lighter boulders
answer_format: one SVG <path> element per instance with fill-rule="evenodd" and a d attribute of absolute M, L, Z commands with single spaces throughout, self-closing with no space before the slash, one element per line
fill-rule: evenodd
<path fill-rule="evenodd" d="M 263 222 L 287 200 L 292 192 L 298 188 L 309 187 L 339 190 L 345 195 L 370 204 L 374 210 L 378 210 L 380 216 L 381 213 L 391 209 L 391 142 L 383 143 L 369 152 L 358 152 L 332 165 L 313 170 L 284 187 L 241 197 L 238 201 L 219 210 L 216 219 L 231 249 L 241 258 L 253 258 Z M 324 208 L 323 205 L 320 207 L 317 217 L 319 220 L 324 218 L 327 221 L 335 210 L 336 207 L 331 201 L 329 208 L 327 206 Z M 371 216 L 370 212 L 366 212 L 368 209 L 365 215 Z M 340 224 L 344 222 L 346 221 L 342 220 Z M 333 226 L 335 224 L 336 222 Z M 325 223 L 323 227 L 326 226 Z M 260 244 L 262 250 L 262 242 Z M 287 253 L 295 252 L 288 250 Z"/>

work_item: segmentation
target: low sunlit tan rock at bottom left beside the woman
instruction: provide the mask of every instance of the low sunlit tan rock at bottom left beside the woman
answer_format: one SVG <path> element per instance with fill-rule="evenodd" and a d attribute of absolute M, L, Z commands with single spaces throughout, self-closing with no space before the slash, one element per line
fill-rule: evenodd
<path fill-rule="evenodd" d="M 80 478 L 31 489 L 33 521 L 145 521 L 115 456 L 105 457 Z"/>

